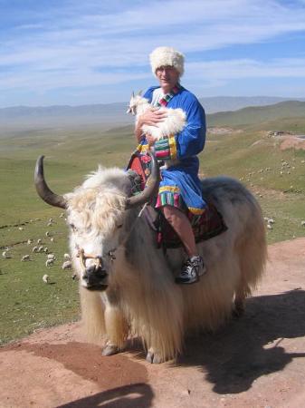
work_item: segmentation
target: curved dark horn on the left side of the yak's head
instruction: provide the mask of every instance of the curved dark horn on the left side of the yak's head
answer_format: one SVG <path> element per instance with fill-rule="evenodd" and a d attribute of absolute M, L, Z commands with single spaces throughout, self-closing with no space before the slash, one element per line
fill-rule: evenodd
<path fill-rule="evenodd" d="M 43 159 L 44 156 L 40 156 L 36 161 L 36 167 L 34 172 L 34 184 L 36 191 L 41 199 L 47 204 L 50 204 L 53 207 L 59 207 L 60 209 L 66 209 L 67 203 L 66 200 L 49 189 L 47 183 L 44 181 L 43 176 Z"/>

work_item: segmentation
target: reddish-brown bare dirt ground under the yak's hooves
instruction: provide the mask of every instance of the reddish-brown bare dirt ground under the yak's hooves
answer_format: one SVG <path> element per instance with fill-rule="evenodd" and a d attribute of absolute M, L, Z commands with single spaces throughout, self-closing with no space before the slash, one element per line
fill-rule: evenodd
<path fill-rule="evenodd" d="M 177 364 L 148 364 L 134 346 L 102 357 L 79 324 L 0 349 L 0 407 L 300 408 L 305 406 L 305 238 L 269 248 L 245 315 L 186 339 Z"/>

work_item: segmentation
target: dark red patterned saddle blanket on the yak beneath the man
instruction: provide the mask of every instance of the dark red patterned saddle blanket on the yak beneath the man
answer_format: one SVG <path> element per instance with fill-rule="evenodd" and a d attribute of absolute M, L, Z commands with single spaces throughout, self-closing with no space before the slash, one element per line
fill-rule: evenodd
<path fill-rule="evenodd" d="M 145 189 L 145 184 L 150 174 L 150 157 L 148 154 L 135 151 L 130 157 L 127 169 L 133 170 L 138 174 L 138 178 L 136 178 L 132 188 L 132 193 L 137 194 Z M 144 210 L 143 215 L 147 219 L 148 225 L 157 233 L 157 248 L 182 247 L 183 243 L 176 235 L 175 230 L 167 222 L 161 211 L 154 208 L 155 200 L 156 198 L 152 199 L 149 206 Z M 194 215 L 188 209 L 186 209 L 186 217 L 192 225 L 196 243 L 214 238 L 227 229 L 222 214 L 211 202 L 207 202 L 207 208 L 199 218 L 195 216 L 194 219 Z"/>

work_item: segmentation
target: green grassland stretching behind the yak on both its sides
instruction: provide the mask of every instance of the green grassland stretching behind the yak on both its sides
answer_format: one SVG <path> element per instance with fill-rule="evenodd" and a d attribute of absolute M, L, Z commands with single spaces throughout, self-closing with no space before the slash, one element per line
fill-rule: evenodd
<path fill-rule="evenodd" d="M 272 121 L 266 121 L 264 111 L 261 121 L 256 117 L 256 121 L 245 123 L 236 114 L 235 121 L 219 122 L 221 126 L 231 126 L 232 131 L 208 135 L 205 151 L 200 154 L 201 172 L 205 176 L 230 175 L 252 189 L 264 216 L 275 221 L 273 229 L 267 232 L 270 243 L 304 237 L 301 221 L 305 219 L 305 151 L 281 151 L 281 141 L 269 137 L 268 131 L 305 134 L 305 117 L 274 120 L 271 115 Z M 217 125 L 214 116 L 211 124 Z M 71 279 L 71 271 L 61 268 L 62 256 L 68 251 L 68 231 L 60 218 L 61 210 L 48 207 L 36 196 L 36 158 L 40 154 L 46 156 L 46 179 L 57 193 L 64 193 L 79 185 L 99 163 L 124 167 L 134 147 L 129 126 L 110 131 L 91 126 L 0 134 L 0 247 L 1 252 L 10 248 L 11 255 L 0 259 L 0 343 L 27 335 L 38 327 L 79 317 L 77 282 Z M 47 227 L 51 218 L 54 222 Z M 45 236 L 47 230 L 53 242 Z M 29 238 L 33 239 L 31 245 L 27 244 Z M 45 254 L 32 253 L 39 238 L 43 247 L 56 255 L 54 267 L 45 267 Z M 25 254 L 31 260 L 21 262 Z M 50 276 L 51 285 L 43 284 L 45 273 Z"/>

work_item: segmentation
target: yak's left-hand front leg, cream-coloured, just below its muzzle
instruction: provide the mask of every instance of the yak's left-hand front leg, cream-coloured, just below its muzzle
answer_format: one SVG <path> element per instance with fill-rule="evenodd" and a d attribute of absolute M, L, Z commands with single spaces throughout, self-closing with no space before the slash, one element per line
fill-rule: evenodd
<path fill-rule="evenodd" d="M 105 326 L 108 341 L 102 355 L 115 355 L 123 350 L 128 335 L 128 325 L 115 298 L 108 296 L 105 310 Z"/>

